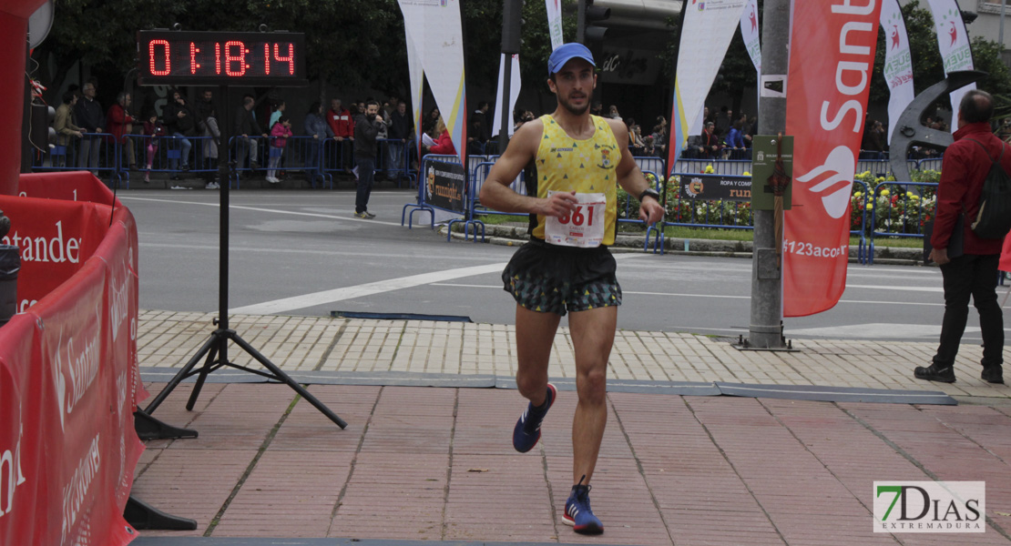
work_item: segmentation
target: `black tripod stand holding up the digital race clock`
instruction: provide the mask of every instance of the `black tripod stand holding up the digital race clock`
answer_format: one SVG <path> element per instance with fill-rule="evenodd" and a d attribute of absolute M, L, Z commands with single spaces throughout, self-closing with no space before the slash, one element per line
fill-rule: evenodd
<path fill-rule="evenodd" d="M 256 373 L 268 379 L 273 379 L 279 383 L 287 384 L 288 387 L 293 389 L 302 398 L 307 400 L 309 404 L 319 410 L 324 415 L 326 415 L 331 421 L 337 423 L 337 426 L 342 429 L 347 427 L 348 424 L 337 416 L 333 411 L 330 410 L 324 403 L 319 402 L 315 397 L 309 394 L 301 385 L 298 385 L 294 379 L 292 379 L 287 373 L 285 373 L 281 368 L 277 367 L 276 364 L 270 361 L 266 356 L 260 354 L 260 351 L 253 348 L 245 339 L 239 336 L 235 330 L 228 329 L 228 187 L 231 186 L 231 174 L 234 173 L 235 162 L 229 162 L 227 160 L 227 148 L 222 146 L 221 143 L 228 142 L 228 112 L 227 112 L 227 86 L 218 87 L 218 104 L 225 104 L 224 108 L 217 109 L 218 114 L 222 123 L 220 124 L 220 137 L 217 139 L 218 147 L 218 172 L 221 178 L 221 211 L 220 211 L 220 248 L 219 248 L 219 258 L 218 258 L 218 316 L 214 319 L 214 325 L 217 329 L 211 332 L 210 338 L 204 342 L 200 350 L 193 355 L 192 358 L 186 362 L 186 365 L 179 370 L 178 373 L 172 380 L 169 381 L 165 389 L 155 397 L 155 400 L 145 408 L 145 413 L 153 413 L 161 404 L 168 398 L 169 394 L 185 378 L 191 377 L 193 375 L 198 375 L 196 379 L 196 386 L 193 388 L 193 393 L 190 395 L 189 402 L 186 403 L 186 409 L 192 411 L 193 406 L 196 404 L 197 397 L 200 396 L 200 389 L 203 387 L 204 381 L 207 378 L 207 374 L 220 369 L 221 367 L 228 366 L 244 371 L 249 371 L 250 373 Z M 250 356 L 260 362 L 269 371 L 263 371 L 260 369 L 253 369 L 248 366 L 237 364 L 228 360 L 228 341 L 234 342 L 239 345 L 241 349 L 247 352 Z M 194 369 L 197 363 L 203 359 L 203 365 L 198 369 Z"/>

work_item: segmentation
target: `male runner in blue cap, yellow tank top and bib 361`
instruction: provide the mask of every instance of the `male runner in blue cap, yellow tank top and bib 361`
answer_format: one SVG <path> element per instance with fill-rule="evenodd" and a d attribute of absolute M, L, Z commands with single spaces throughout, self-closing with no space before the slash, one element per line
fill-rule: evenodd
<path fill-rule="evenodd" d="M 517 130 L 480 196 L 493 210 L 530 214 L 530 242 L 502 271 L 504 290 L 517 302 L 516 383 L 530 401 L 513 433 L 517 451 L 530 451 L 541 437 L 541 421 L 557 396 L 548 383 L 551 344 L 561 317 L 571 312 L 579 400 L 572 420 L 574 484 L 562 521 L 583 534 L 604 532 L 589 508 L 589 479 L 608 420 L 608 356 L 622 301 L 608 250 L 615 241 L 616 185 L 639 198 L 641 219 L 652 224 L 663 217 L 659 195 L 625 144 L 625 124 L 589 114 L 594 67 L 589 49 L 579 43 L 551 53 L 548 87 L 558 107 Z M 509 187 L 524 169 L 526 196 Z"/>

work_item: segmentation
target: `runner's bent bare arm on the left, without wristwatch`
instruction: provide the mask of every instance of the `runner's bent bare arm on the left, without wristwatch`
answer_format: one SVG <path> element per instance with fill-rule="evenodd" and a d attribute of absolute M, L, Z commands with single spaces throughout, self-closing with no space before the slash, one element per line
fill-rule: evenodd
<path fill-rule="evenodd" d="M 513 191 L 510 185 L 520 176 L 520 172 L 537 156 L 537 146 L 544 131 L 540 120 L 524 123 L 517 129 L 505 152 L 491 167 L 488 178 L 481 186 L 481 204 L 500 212 L 540 214 L 562 217 L 575 210 L 574 192 L 555 193 L 548 199 L 537 196 L 523 196 Z"/>

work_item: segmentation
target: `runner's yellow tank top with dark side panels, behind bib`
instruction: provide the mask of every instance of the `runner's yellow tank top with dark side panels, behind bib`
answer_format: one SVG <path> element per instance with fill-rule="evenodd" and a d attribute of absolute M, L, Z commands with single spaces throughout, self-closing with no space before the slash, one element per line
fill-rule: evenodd
<path fill-rule="evenodd" d="M 608 205 L 604 220 L 605 245 L 615 243 L 615 225 L 618 219 L 617 188 L 615 176 L 622 151 L 618 146 L 611 125 L 599 116 L 589 116 L 593 122 L 593 136 L 576 140 L 565 133 L 550 114 L 541 116 L 544 136 L 537 147 L 534 169 L 529 174 L 534 184 L 528 182 L 528 195 L 547 199 L 548 192 L 605 194 Z M 528 178 L 528 180 L 529 180 Z M 533 186 L 533 188 L 531 188 Z M 536 191 L 535 191 L 536 189 Z M 545 217 L 531 215 L 531 233 L 544 239 Z"/>

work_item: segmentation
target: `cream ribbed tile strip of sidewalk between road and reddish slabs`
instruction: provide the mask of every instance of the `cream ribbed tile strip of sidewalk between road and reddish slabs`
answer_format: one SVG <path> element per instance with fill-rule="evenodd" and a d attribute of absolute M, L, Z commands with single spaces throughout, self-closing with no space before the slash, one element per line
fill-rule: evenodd
<path fill-rule="evenodd" d="M 213 331 L 211 320 L 215 316 L 143 311 L 137 339 L 141 367 L 183 365 Z M 228 320 L 229 327 L 246 341 L 292 372 L 516 375 L 516 330 L 510 325 L 278 315 L 233 315 Z M 913 378 L 913 368 L 930 361 L 936 341 L 797 339 L 793 343 L 799 351 L 739 351 L 728 338 L 620 330 L 608 377 L 942 391 L 956 398 L 1011 398 L 1011 387 L 980 378 L 983 348 L 978 345 L 961 346 L 955 362 L 958 380 L 945 385 Z M 1011 348 L 1005 351 L 1005 360 L 1011 361 Z M 259 365 L 238 349 L 229 355 L 237 363 Z M 548 374 L 571 378 L 574 362 L 568 328 L 561 327 Z"/>

